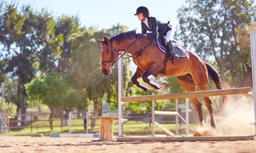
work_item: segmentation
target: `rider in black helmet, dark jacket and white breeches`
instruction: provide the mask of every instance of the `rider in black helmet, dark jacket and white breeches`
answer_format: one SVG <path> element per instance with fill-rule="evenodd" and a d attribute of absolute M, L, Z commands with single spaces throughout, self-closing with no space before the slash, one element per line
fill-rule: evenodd
<path fill-rule="evenodd" d="M 177 54 L 174 52 L 172 45 L 172 38 L 174 35 L 174 31 L 172 30 L 172 25 L 168 23 L 162 23 L 155 19 L 155 17 L 150 17 L 150 12 L 145 6 L 140 6 L 137 8 L 134 16 L 138 17 L 138 20 L 141 21 L 141 33 L 138 34 L 139 37 L 155 37 L 158 38 L 159 34 L 165 36 L 165 40 L 168 44 L 170 50 L 170 58 L 172 59 L 172 63 L 177 64 L 177 59 L 179 58 Z M 150 31 L 147 33 L 147 31 Z"/>

